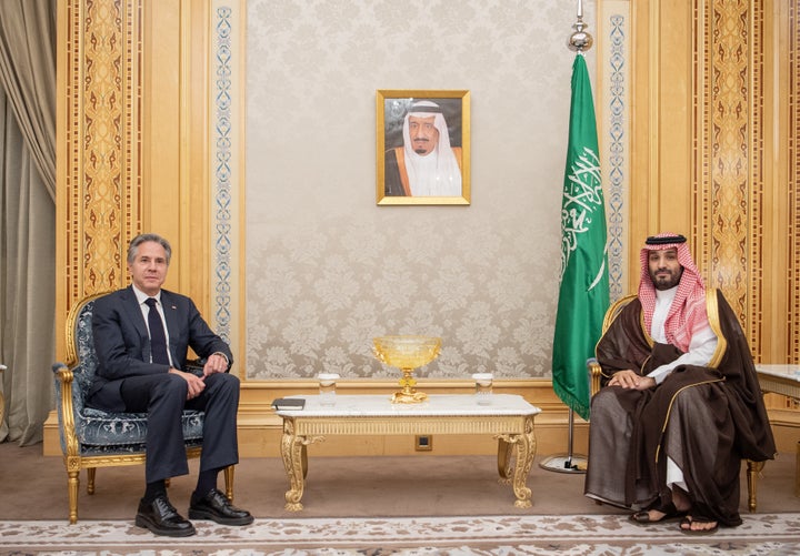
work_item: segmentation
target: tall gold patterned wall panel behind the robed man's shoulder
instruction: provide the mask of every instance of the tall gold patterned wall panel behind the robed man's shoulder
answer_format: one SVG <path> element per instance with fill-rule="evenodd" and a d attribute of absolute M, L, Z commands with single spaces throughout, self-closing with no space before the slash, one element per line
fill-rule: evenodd
<path fill-rule="evenodd" d="M 747 0 L 700 0 L 696 6 L 697 259 L 709 285 L 724 292 L 758 353 L 763 303 L 762 7 Z"/>

